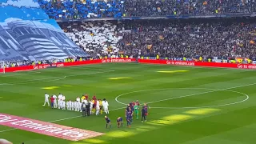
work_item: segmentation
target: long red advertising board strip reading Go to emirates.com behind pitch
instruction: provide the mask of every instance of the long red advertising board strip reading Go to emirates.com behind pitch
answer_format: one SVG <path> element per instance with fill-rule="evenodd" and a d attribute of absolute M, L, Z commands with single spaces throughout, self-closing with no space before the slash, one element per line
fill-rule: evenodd
<path fill-rule="evenodd" d="M 222 63 L 222 62 L 190 62 L 190 61 L 170 61 L 162 59 L 136 59 L 136 58 L 107 58 L 107 59 L 95 59 L 82 62 L 58 62 L 54 64 L 43 64 L 35 66 L 18 66 L 18 67 L 8 67 L 5 72 L 17 72 L 26 70 L 38 70 L 54 67 L 64 67 L 64 66 L 80 66 L 98 63 L 108 63 L 108 62 L 139 62 L 148 64 L 163 64 L 163 65 L 176 65 L 176 66 L 205 66 L 205 67 L 222 67 L 222 68 L 235 68 L 235 69 L 255 69 L 256 65 L 253 64 L 238 64 L 238 63 Z M 3 69 L 0 69 L 3 72 Z"/>

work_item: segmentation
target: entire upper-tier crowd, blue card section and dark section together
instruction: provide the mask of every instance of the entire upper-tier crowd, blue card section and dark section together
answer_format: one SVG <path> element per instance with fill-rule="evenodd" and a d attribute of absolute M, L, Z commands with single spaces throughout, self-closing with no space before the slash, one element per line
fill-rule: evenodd
<path fill-rule="evenodd" d="M 254 0 L 39 0 L 50 18 L 121 18 L 256 12 Z"/>

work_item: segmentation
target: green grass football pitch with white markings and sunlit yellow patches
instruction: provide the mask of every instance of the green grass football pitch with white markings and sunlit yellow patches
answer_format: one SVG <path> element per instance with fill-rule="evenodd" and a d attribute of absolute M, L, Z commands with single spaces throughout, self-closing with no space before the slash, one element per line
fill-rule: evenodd
<path fill-rule="evenodd" d="M 61 92 L 66 99 L 85 93 L 106 98 L 112 129 L 105 129 L 104 115 L 82 118 L 42 106 L 46 92 Z M 122 103 L 132 100 L 149 103 L 148 122 L 134 120 L 130 128 L 118 129 Z M 14 144 L 255 143 L 255 103 L 254 70 L 106 63 L 0 74 L 0 113 L 105 133 L 70 142 L 0 126 L 0 138 Z"/>

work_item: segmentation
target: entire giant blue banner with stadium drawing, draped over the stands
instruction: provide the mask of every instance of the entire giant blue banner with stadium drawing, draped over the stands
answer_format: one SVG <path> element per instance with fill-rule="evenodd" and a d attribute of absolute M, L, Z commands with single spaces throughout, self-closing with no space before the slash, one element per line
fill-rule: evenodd
<path fill-rule="evenodd" d="M 0 0 L 0 60 L 86 57 L 35 0 Z"/>

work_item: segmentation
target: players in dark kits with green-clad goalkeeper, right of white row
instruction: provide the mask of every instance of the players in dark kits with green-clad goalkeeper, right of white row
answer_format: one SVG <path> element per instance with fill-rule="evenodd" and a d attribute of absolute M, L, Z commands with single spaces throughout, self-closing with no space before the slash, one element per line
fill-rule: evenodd
<path fill-rule="evenodd" d="M 131 123 L 133 122 L 134 114 L 136 116 L 136 119 L 138 119 L 139 106 L 140 104 L 138 100 L 136 102 L 130 102 L 130 104 L 127 105 L 125 110 L 125 117 L 126 117 L 126 123 L 128 127 L 130 127 Z M 146 122 L 148 109 L 150 109 L 150 106 L 144 103 L 144 105 L 142 106 L 142 112 L 141 112 L 142 122 Z M 118 128 L 123 125 L 122 120 L 123 120 L 122 117 L 117 118 Z M 106 121 L 106 128 L 108 128 L 108 126 L 110 126 L 111 128 L 110 118 L 105 116 L 105 121 Z"/>

